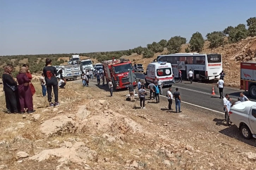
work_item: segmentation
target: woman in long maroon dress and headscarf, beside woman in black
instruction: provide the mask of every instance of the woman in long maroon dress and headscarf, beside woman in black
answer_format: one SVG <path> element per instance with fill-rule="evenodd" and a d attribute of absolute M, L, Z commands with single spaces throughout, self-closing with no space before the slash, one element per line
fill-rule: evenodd
<path fill-rule="evenodd" d="M 32 92 L 29 86 L 30 79 L 26 75 L 27 68 L 21 67 L 19 74 L 17 75 L 17 81 L 18 81 L 18 91 L 19 91 L 19 103 L 20 103 L 20 109 L 21 112 L 24 113 L 25 109 L 28 108 L 28 113 L 35 112 L 33 110 L 33 98 L 32 98 Z"/>

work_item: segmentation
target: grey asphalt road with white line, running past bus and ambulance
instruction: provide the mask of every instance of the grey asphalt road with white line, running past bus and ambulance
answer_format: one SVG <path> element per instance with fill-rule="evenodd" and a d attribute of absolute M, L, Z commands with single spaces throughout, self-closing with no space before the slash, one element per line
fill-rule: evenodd
<path fill-rule="evenodd" d="M 135 75 L 137 78 L 145 80 L 144 74 L 135 73 Z M 172 93 L 175 92 L 176 87 L 178 87 L 179 92 L 181 93 L 181 100 L 183 102 L 198 105 L 201 107 L 206 107 L 208 109 L 212 109 L 219 112 L 224 112 L 222 103 L 223 100 L 219 98 L 219 89 L 217 88 L 216 85 L 214 85 L 214 91 L 216 95 L 212 95 L 212 86 L 213 85 L 210 84 L 196 82 L 190 84 L 190 81 L 183 80 L 182 83 L 175 83 L 172 85 Z M 166 96 L 166 92 L 168 91 L 168 89 L 169 86 L 163 87 L 163 96 Z M 237 98 L 240 97 L 240 92 L 243 92 L 243 90 L 224 87 L 224 95 L 226 93 L 230 94 L 230 97 L 232 97 L 233 99 L 232 102 L 237 101 Z M 245 93 L 245 95 L 250 100 L 256 101 L 255 99 L 250 98 L 248 94 Z"/>

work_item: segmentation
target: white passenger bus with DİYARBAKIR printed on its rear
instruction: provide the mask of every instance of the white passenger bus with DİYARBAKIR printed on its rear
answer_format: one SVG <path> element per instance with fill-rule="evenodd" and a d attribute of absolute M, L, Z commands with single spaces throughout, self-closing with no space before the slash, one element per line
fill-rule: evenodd
<path fill-rule="evenodd" d="M 189 69 L 194 72 L 194 79 L 212 80 L 220 78 L 222 71 L 221 54 L 199 54 L 199 53 L 175 53 L 159 55 L 154 61 L 165 61 L 171 63 L 174 77 L 178 77 L 178 69 L 182 72 L 182 78 L 188 78 Z"/>

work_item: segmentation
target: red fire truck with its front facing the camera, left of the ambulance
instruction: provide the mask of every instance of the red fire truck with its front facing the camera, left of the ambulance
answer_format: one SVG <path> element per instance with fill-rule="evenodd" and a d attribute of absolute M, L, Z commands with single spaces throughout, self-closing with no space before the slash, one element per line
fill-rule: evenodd
<path fill-rule="evenodd" d="M 107 83 L 112 81 L 114 89 L 127 88 L 129 82 L 133 86 L 137 85 L 136 76 L 134 74 L 133 66 L 128 59 L 112 59 L 102 61 L 105 77 Z"/>

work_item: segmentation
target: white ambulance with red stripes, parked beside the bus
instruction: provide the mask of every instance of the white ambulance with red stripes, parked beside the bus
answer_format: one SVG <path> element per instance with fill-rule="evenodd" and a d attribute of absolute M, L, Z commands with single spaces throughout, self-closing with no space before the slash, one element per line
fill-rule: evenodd
<path fill-rule="evenodd" d="M 165 63 L 162 61 L 152 62 L 147 65 L 147 71 L 145 73 L 145 81 L 150 84 L 153 79 L 159 78 L 163 81 L 163 85 L 172 85 L 172 66 L 171 63 Z"/>

